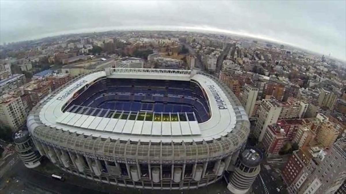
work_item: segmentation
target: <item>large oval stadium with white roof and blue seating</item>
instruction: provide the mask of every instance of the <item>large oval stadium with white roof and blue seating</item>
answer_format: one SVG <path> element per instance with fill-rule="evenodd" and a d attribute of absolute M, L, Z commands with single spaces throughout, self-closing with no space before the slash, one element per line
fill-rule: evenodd
<path fill-rule="evenodd" d="M 235 165 L 250 124 L 211 75 L 107 68 L 45 97 L 27 126 L 39 155 L 64 171 L 119 186 L 191 189 Z"/>

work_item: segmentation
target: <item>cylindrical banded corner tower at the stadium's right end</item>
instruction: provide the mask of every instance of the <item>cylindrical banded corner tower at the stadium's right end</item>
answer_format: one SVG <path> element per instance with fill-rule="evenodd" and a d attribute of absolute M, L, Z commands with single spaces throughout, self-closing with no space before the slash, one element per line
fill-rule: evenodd
<path fill-rule="evenodd" d="M 245 194 L 249 191 L 256 176 L 260 173 L 263 153 L 255 147 L 247 147 L 239 154 L 235 169 L 227 188 L 234 194 Z"/>

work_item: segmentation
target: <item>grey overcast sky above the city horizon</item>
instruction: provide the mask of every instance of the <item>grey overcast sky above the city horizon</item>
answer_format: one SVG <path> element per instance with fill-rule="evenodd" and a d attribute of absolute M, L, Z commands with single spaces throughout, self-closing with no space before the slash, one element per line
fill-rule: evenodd
<path fill-rule="evenodd" d="M 111 29 L 211 30 L 346 60 L 345 2 L 0 0 L 0 42 Z"/>

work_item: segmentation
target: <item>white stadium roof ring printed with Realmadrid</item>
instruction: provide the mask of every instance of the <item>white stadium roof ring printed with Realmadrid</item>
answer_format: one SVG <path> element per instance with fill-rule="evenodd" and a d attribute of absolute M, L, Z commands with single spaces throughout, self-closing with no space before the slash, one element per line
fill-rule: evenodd
<path fill-rule="evenodd" d="M 107 75 L 106 75 L 107 74 Z M 169 79 L 198 82 L 208 96 L 211 118 L 203 123 L 193 121 L 143 121 L 105 118 L 62 112 L 73 94 L 86 84 L 102 78 Z M 211 77 L 191 74 L 187 70 L 163 69 L 108 69 L 86 75 L 62 89 L 55 96 L 47 97 L 39 118 L 47 126 L 94 137 L 141 142 L 199 142 L 226 136 L 235 127 L 238 119 L 247 120 L 241 106 L 234 107 L 230 97 Z M 231 100 L 232 101 L 232 100 Z M 232 101 L 233 102 L 233 101 Z M 135 113 L 138 114 L 138 113 Z"/>

